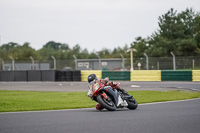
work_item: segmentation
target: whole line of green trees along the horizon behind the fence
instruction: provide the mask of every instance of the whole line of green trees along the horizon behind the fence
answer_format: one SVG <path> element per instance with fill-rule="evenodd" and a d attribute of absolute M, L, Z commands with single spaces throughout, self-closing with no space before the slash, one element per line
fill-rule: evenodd
<path fill-rule="evenodd" d="M 171 8 L 167 13 L 159 16 L 158 29 L 147 38 L 138 36 L 131 44 L 114 49 L 103 48 L 98 55 L 101 58 L 129 58 L 127 52 L 129 48 L 134 48 L 137 52 L 134 57 L 142 57 L 146 53 L 150 57 L 171 56 L 172 51 L 176 56 L 200 56 L 200 13 L 192 8 L 177 12 Z M 66 43 L 49 41 L 39 50 L 35 50 L 30 43 L 18 44 L 9 42 L 0 46 L 0 58 L 10 60 L 12 56 L 15 60 L 30 60 L 32 56 L 35 60 L 50 60 L 54 56 L 57 60 L 73 59 L 76 55 L 78 59 L 97 58 L 96 52 L 88 52 L 82 49 L 79 44 L 69 47 Z"/>

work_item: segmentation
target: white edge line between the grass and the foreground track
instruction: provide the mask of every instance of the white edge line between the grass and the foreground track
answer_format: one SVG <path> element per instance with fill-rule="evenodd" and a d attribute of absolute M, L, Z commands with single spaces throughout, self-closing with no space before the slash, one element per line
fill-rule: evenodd
<path fill-rule="evenodd" d="M 154 102 L 154 103 L 142 103 L 139 106 L 151 105 L 151 104 L 162 104 L 162 103 L 176 103 L 176 102 L 185 102 L 185 101 L 193 101 L 200 100 L 200 98 L 195 99 L 186 99 L 186 100 L 177 100 L 177 101 L 166 101 L 166 102 Z M 22 111 L 22 112 L 0 112 L 0 115 L 3 114 L 22 114 L 22 113 L 47 113 L 47 112 L 63 112 L 63 111 L 78 111 L 78 110 L 93 110 L 95 108 L 81 108 L 81 109 L 61 109 L 61 110 L 44 110 L 44 111 Z"/>

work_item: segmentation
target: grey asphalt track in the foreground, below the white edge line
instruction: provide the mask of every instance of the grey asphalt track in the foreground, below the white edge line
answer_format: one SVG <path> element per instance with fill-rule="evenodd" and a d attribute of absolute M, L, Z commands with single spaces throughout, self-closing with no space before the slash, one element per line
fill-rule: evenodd
<path fill-rule="evenodd" d="M 136 110 L 94 108 L 0 113 L 0 133 L 199 133 L 200 99 L 141 104 Z"/>

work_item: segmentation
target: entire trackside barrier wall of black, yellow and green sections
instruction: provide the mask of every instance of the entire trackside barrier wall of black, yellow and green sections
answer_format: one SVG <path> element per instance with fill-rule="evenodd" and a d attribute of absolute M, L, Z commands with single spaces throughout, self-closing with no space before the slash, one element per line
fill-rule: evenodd
<path fill-rule="evenodd" d="M 110 80 L 123 81 L 200 81 L 200 70 L 134 70 L 134 71 L 57 71 L 28 70 L 0 71 L 0 81 L 87 81 L 90 74 L 96 74 L 98 79 L 109 77 Z"/>

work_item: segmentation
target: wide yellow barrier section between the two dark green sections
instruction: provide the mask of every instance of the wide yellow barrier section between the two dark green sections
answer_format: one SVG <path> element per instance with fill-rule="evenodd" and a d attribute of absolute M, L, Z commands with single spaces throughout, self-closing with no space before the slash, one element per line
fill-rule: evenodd
<path fill-rule="evenodd" d="M 131 81 L 161 81 L 160 70 L 133 70 Z"/>

